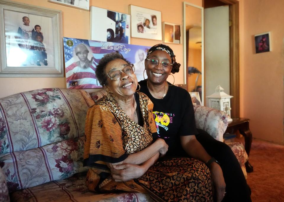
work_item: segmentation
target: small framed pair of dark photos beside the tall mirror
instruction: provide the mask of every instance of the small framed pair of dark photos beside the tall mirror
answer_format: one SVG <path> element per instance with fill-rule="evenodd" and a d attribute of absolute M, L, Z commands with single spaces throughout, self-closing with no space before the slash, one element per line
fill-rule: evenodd
<path fill-rule="evenodd" d="M 181 44 L 181 25 L 163 22 L 163 42 Z"/>

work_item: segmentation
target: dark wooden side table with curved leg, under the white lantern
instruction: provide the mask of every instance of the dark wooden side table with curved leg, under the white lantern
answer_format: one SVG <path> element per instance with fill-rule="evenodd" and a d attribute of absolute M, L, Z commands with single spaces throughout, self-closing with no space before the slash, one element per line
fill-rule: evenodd
<path fill-rule="evenodd" d="M 232 118 L 233 121 L 229 123 L 227 130 L 225 133 L 234 134 L 235 132 L 239 131 L 245 138 L 245 150 L 249 156 L 249 152 L 251 151 L 251 142 L 252 142 L 252 134 L 249 130 L 249 119 L 248 118 Z M 251 173 L 254 169 L 253 166 L 246 162 L 246 171 Z"/>

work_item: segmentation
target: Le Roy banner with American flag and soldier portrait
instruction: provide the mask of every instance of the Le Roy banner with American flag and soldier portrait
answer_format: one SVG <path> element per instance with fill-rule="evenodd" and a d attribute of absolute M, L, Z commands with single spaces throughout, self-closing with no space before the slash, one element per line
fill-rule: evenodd
<path fill-rule="evenodd" d="M 138 81 L 147 78 L 144 60 L 150 47 L 86 39 L 63 38 L 67 88 L 101 88 L 95 71 L 106 53 L 120 52 L 134 64 Z"/>

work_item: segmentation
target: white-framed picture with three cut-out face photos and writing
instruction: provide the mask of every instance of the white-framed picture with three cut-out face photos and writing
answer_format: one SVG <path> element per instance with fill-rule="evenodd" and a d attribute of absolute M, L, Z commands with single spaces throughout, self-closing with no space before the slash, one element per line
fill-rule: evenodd
<path fill-rule="evenodd" d="M 162 40 L 161 11 L 134 5 L 129 5 L 128 9 L 131 14 L 132 37 Z"/>

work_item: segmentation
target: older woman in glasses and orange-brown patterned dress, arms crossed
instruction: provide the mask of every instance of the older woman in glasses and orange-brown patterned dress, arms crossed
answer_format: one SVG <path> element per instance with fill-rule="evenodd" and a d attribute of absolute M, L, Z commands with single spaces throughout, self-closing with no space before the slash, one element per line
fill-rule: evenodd
<path fill-rule="evenodd" d="M 96 76 L 107 96 L 97 101 L 86 117 L 88 188 L 149 193 L 155 201 L 212 201 L 210 173 L 203 163 L 190 158 L 155 163 L 168 146 L 160 138 L 153 142 L 157 136 L 153 103 L 144 93 L 136 92 L 140 85 L 133 64 L 120 53 L 109 53 L 99 62 Z M 128 165 L 139 166 L 139 170 L 128 170 Z M 117 166 L 125 166 L 132 177 L 126 182 L 116 180 L 116 174 L 110 172 Z"/>

